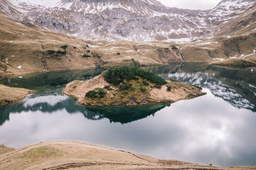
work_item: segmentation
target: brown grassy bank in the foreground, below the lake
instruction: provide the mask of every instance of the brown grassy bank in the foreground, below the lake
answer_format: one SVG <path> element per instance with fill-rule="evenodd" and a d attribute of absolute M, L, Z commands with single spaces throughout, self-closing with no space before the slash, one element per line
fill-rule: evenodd
<path fill-rule="evenodd" d="M 0 148 L 1 150 L 1 148 Z M 0 169 L 255 169 L 256 167 L 201 166 L 160 160 L 122 150 L 76 141 L 54 141 L 25 146 L 0 155 Z"/>

